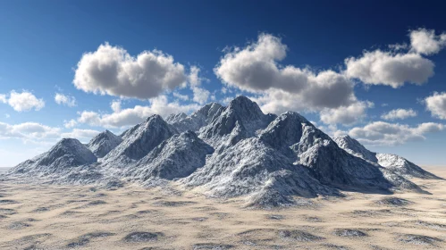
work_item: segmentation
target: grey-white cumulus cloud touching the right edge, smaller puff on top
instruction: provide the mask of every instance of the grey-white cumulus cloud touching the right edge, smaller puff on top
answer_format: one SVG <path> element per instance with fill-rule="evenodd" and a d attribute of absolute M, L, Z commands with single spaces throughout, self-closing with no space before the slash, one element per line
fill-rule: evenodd
<path fill-rule="evenodd" d="M 439 53 L 446 46 L 446 33 L 435 35 L 433 29 L 415 29 L 409 31 L 409 37 L 410 45 L 391 45 L 391 51 L 377 49 L 345 59 L 345 74 L 366 84 L 395 88 L 426 83 L 435 65 L 424 55 Z"/>

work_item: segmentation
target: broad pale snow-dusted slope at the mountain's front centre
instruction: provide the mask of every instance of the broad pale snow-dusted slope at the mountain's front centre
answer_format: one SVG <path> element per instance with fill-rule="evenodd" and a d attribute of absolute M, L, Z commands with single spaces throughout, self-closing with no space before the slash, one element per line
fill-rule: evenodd
<path fill-rule="evenodd" d="M 291 204 L 289 196 L 338 195 L 312 178 L 305 167 L 293 165 L 257 137 L 213 154 L 204 167 L 181 179 L 181 183 L 205 187 L 212 196 L 248 196 L 249 204 L 267 206 Z"/>

